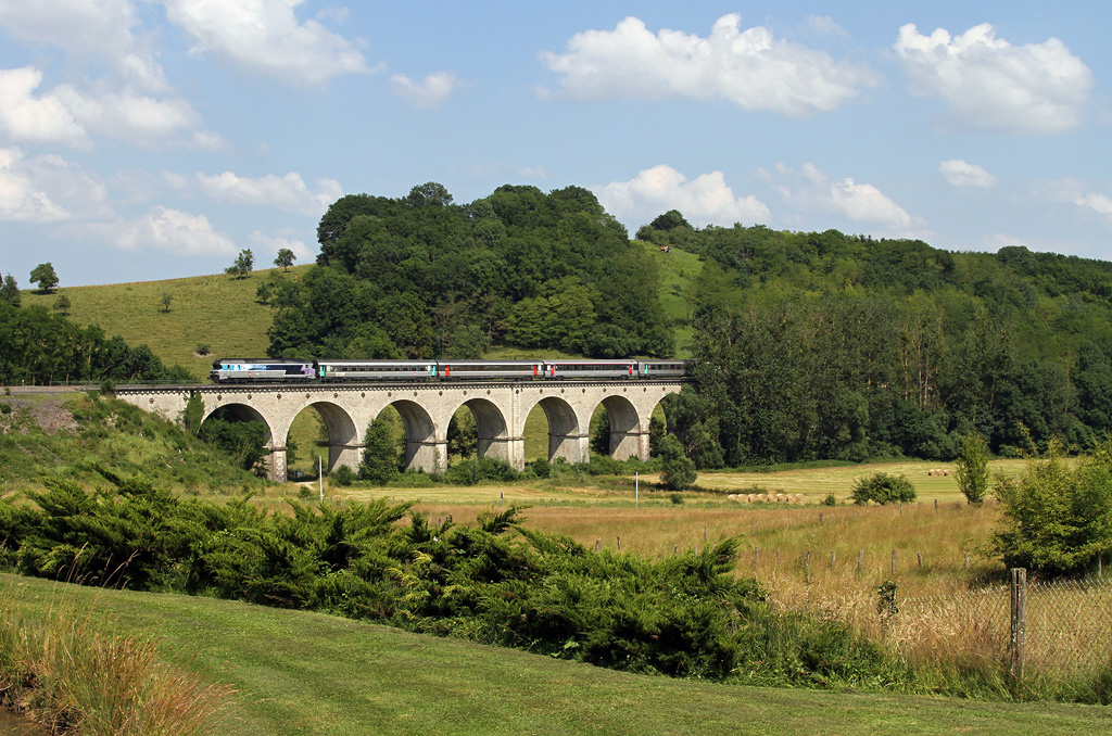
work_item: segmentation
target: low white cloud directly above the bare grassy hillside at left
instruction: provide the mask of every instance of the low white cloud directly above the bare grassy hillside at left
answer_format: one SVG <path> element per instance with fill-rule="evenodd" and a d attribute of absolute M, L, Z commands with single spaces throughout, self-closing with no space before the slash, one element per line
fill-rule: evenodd
<path fill-rule="evenodd" d="M 99 237 L 122 250 L 167 250 L 186 256 L 227 256 L 236 245 L 217 232 L 203 215 L 156 207 L 147 215 L 111 222 L 75 226 L 81 235 Z"/>

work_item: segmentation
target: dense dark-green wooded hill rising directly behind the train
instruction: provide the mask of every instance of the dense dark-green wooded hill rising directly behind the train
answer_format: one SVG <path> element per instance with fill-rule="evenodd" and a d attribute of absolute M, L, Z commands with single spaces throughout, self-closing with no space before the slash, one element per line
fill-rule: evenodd
<path fill-rule="evenodd" d="M 580 187 L 499 187 L 469 205 L 437 183 L 344 197 L 318 267 L 266 282 L 271 356 L 479 358 L 496 345 L 669 356 L 656 266 Z"/>

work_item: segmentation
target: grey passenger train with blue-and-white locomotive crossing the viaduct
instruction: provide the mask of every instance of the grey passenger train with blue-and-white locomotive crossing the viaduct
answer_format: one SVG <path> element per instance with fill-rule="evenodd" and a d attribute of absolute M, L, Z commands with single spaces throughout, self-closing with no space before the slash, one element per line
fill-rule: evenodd
<path fill-rule="evenodd" d="M 678 359 L 617 360 L 301 360 L 289 358 L 218 358 L 209 379 L 215 384 L 431 381 L 431 380 L 574 380 L 585 378 L 646 380 L 682 378 L 687 362 Z"/>

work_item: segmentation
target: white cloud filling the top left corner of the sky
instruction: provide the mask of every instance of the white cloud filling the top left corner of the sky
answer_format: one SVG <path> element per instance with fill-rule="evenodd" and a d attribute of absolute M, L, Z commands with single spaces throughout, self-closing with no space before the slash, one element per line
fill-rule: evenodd
<path fill-rule="evenodd" d="M 16 37 L 98 57 L 129 84 L 165 91 L 155 51 L 133 32 L 140 26 L 130 0 L 0 0 L 0 27 Z"/>

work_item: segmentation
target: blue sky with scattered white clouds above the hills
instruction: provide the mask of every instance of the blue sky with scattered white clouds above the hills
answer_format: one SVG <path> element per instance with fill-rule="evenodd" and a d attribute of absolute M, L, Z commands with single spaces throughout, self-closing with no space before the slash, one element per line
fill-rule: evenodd
<path fill-rule="evenodd" d="M 347 193 L 586 187 L 633 235 L 1112 260 L 1112 3 L 0 0 L 0 275 L 297 262 Z"/>

